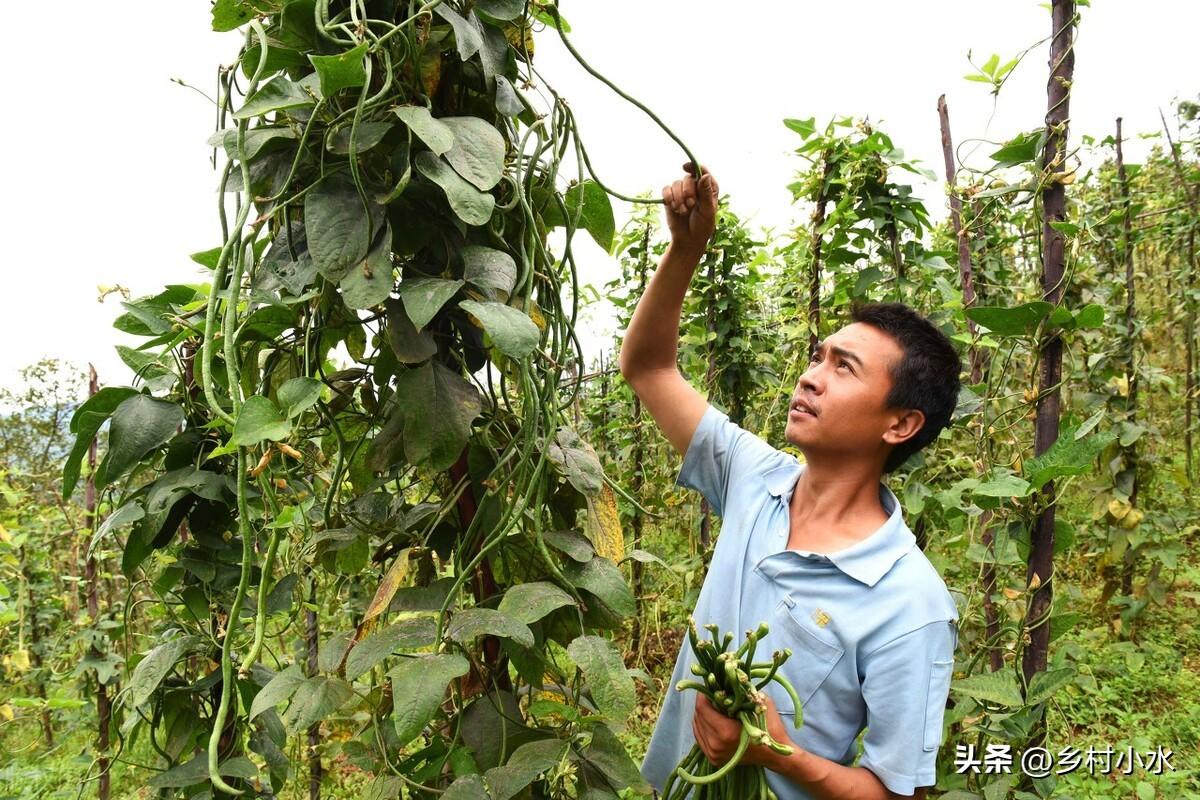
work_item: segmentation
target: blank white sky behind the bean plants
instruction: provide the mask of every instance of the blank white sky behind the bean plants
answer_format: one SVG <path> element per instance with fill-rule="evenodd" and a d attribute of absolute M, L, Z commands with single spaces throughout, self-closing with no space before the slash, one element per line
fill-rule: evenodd
<path fill-rule="evenodd" d="M 102 383 L 127 383 L 113 347 L 136 341 L 112 329 L 119 297 L 98 303 L 97 284 L 138 296 L 203 281 L 187 255 L 220 243 L 205 145 L 212 106 L 170 78 L 214 94 L 216 65 L 232 61 L 240 35 L 211 32 L 199 0 L 140 0 L 119 14 L 107 4 L 71 5 L 70 26 L 53 38 L 10 37 L 0 56 L 10 77 L 0 145 L 14 203 L 4 217 L 5 385 L 47 355 L 82 368 L 91 361 Z M 654 109 L 755 225 L 796 218 L 786 186 L 800 167 L 791 155 L 798 137 L 784 118 L 869 115 L 941 180 L 940 94 L 956 144 L 1003 140 L 1044 116 L 1045 46 L 1016 68 L 994 118 L 989 88 L 962 79 L 968 50 L 977 64 L 991 53 L 1006 61 L 1049 35 L 1049 12 L 1031 0 L 563 0 L 563 11 L 592 66 Z M 1118 114 L 1127 136 L 1157 131 L 1160 106 L 1200 91 L 1200 4 L 1096 0 L 1082 16 L 1074 143 L 1085 132 L 1106 136 Z M 553 31 L 540 35 L 536 64 L 570 101 L 605 182 L 656 194 L 680 174 L 678 148 L 575 65 Z M 1145 149 L 1132 143 L 1127 158 Z M 924 199 L 942 215 L 941 184 L 925 187 Z M 626 213 L 618 204 L 618 225 Z M 601 287 L 617 273 L 589 241 L 580 251 L 584 282 Z M 606 319 L 586 327 L 590 359 L 612 330 Z"/>

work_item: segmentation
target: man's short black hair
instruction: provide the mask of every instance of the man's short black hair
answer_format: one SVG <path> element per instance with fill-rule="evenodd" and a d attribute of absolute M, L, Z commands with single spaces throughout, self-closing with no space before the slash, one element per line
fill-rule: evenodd
<path fill-rule="evenodd" d="M 918 409 L 925 415 L 922 428 L 888 453 L 883 471 L 890 473 L 950 423 L 959 401 L 962 361 L 946 333 L 902 302 L 859 305 L 851 309 L 851 319 L 883 331 L 904 351 L 892 365 L 887 407 Z"/>

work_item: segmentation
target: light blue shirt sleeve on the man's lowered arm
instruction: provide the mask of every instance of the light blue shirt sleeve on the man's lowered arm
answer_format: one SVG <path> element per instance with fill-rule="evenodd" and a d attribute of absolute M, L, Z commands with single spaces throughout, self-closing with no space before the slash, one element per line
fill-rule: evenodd
<path fill-rule="evenodd" d="M 892 639 L 864 660 L 868 730 L 859 766 L 896 794 L 912 794 L 937 780 L 956 646 L 955 621 L 940 620 Z"/>

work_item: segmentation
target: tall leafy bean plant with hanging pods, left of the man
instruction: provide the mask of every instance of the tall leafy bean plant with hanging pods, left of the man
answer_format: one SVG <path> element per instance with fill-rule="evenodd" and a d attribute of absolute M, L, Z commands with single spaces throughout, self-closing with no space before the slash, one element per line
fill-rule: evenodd
<path fill-rule="evenodd" d="M 64 470 L 70 497 L 109 422 L 96 541 L 161 622 L 121 748 L 149 739 L 152 789 L 274 793 L 338 721 L 372 796 L 644 792 L 604 634 L 634 612 L 606 543 L 622 489 L 564 381 L 571 243 L 611 249 L 624 196 L 534 26 L 637 101 L 554 5 L 220 0 L 212 25 L 245 31 L 209 140 L 222 240 L 203 284 L 125 303 L 139 385 L 77 409 Z"/>

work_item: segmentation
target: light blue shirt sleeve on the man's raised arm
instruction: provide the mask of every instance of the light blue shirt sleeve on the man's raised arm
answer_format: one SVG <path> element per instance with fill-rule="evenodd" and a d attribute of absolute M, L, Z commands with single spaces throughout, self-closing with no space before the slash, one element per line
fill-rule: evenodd
<path fill-rule="evenodd" d="M 761 473 L 779 455 L 778 450 L 730 421 L 728 415 L 709 403 L 688 444 L 676 485 L 703 494 L 713 513 L 724 517 L 731 483 Z"/>

